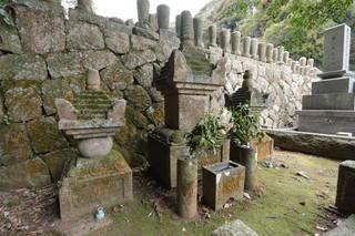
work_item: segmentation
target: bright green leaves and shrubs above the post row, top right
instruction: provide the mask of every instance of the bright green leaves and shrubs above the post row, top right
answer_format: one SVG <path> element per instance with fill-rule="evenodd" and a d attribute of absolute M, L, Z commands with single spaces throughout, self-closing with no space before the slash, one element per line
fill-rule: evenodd
<path fill-rule="evenodd" d="M 227 13 L 245 16 L 241 11 L 256 8 L 246 14 L 239 30 L 244 35 L 257 37 L 278 45 L 284 45 L 293 59 L 314 58 L 322 65 L 323 32 L 334 22 L 354 21 L 354 0 L 232 0 Z M 352 25 L 352 24 L 351 24 Z"/>

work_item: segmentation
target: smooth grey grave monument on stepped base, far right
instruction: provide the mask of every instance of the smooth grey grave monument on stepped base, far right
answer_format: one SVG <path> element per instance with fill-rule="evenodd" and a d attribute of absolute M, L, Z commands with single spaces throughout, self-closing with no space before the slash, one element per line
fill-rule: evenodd
<path fill-rule="evenodd" d="M 325 31 L 324 71 L 303 96 L 297 111 L 298 131 L 355 135 L 355 78 L 349 71 L 351 28 L 339 24 Z"/>

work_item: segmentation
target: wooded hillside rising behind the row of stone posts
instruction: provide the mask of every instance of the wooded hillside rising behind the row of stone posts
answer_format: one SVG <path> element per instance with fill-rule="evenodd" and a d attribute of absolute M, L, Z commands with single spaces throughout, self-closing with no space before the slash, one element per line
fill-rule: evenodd
<path fill-rule="evenodd" d="M 328 27 L 336 23 L 347 23 L 352 29 L 355 27 L 355 6 L 347 10 L 346 16 L 339 19 L 329 19 L 326 23 L 317 25 L 312 30 L 297 29 L 295 32 L 291 28 L 287 16 L 291 10 L 291 3 L 272 12 L 270 3 L 254 9 L 250 9 L 245 17 L 235 13 L 242 0 L 212 0 L 207 3 L 196 17 L 202 18 L 206 25 L 215 23 L 219 28 L 239 30 L 243 35 L 255 37 L 276 45 L 284 45 L 291 52 L 294 60 L 300 57 L 314 58 L 317 66 L 322 68 L 323 58 L 323 32 Z M 273 16 L 271 16 L 271 12 Z M 302 35 L 300 40 L 297 35 Z M 352 32 L 352 60 L 355 64 L 355 30 Z M 354 69 L 355 66 L 352 65 Z"/>

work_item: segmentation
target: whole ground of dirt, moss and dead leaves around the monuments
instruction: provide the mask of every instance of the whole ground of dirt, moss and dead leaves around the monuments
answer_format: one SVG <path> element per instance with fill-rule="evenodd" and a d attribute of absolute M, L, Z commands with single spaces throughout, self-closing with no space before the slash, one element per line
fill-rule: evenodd
<path fill-rule="evenodd" d="M 261 236 L 321 235 L 346 217 L 333 206 L 337 166 L 337 161 L 276 151 L 260 162 L 255 192 L 219 212 L 199 205 L 199 217 L 190 223 L 175 214 L 175 191 L 160 187 L 145 166 L 134 170 L 134 201 L 105 209 L 104 222 L 61 222 L 54 185 L 0 192 L 0 235 L 204 236 L 233 219 Z"/>

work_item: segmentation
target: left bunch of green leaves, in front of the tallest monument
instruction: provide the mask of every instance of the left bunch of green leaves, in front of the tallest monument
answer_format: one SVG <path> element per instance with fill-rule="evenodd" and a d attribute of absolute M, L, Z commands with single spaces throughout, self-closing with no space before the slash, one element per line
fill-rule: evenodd
<path fill-rule="evenodd" d="M 216 151 L 220 147 L 217 140 L 225 137 L 225 126 L 219 116 L 207 114 L 201 119 L 194 129 L 187 133 L 186 141 L 190 154 L 200 150 Z"/>

